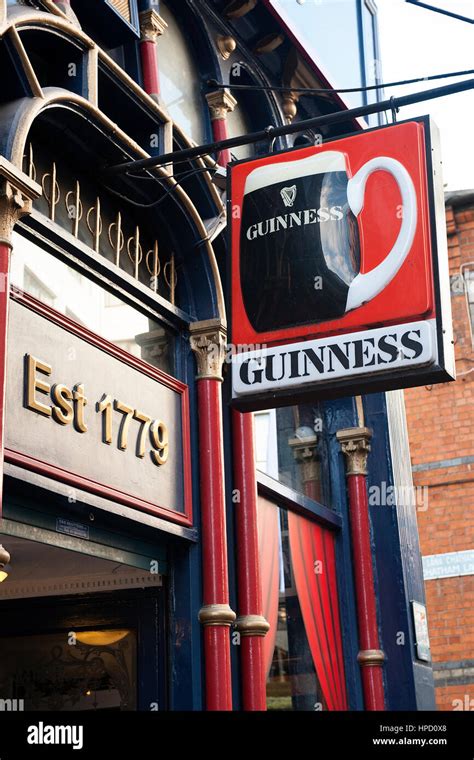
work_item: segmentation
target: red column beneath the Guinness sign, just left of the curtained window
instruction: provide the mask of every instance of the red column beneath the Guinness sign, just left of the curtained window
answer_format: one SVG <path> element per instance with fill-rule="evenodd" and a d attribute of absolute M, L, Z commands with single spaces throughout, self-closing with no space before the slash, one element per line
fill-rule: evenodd
<path fill-rule="evenodd" d="M 266 710 L 263 637 L 270 626 L 262 615 L 253 416 L 233 410 L 232 434 L 242 700 L 244 710 Z"/>

